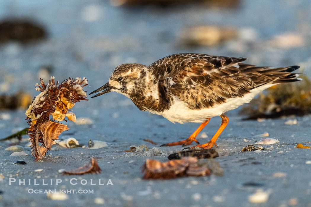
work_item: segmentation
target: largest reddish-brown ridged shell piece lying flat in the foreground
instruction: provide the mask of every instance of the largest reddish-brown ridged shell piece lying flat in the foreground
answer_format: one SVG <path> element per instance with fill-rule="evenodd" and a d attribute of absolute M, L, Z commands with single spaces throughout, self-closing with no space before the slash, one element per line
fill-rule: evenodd
<path fill-rule="evenodd" d="M 206 166 L 199 166 L 196 157 L 183 157 L 162 163 L 147 159 L 142 166 L 143 179 L 170 179 L 183 176 L 206 176 L 210 171 Z"/>

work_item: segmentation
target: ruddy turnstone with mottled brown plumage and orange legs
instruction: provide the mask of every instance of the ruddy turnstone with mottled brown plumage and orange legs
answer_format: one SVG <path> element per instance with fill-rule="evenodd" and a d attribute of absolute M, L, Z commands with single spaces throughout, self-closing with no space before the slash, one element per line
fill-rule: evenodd
<path fill-rule="evenodd" d="M 301 79 L 291 73 L 299 68 L 258 67 L 242 63 L 246 58 L 211 56 L 205 54 L 174 54 L 149 66 L 123 64 L 116 67 L 108 83 L 91 92 L 98 97 L 115 91 L 130 98 L 142 111 L 162 115 L 171 122 L 202 123 L 188 139 L 161 146 L 198 145 L 188 147 L 211 148 L 228 124 L 226 111 L 250 102 L 262 90 L 279 83 Z M 93 98 L 91 97 L 91 98 Z M 206 144 L 195 139 L 211 117 L 222 121 L 216 134 Z"/>

